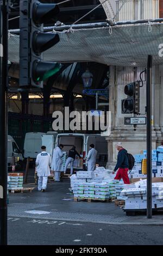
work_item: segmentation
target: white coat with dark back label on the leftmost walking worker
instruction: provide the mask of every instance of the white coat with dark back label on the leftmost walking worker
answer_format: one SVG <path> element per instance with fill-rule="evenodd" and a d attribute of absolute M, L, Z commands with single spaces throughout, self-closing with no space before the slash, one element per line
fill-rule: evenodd
<path fill-rule="evenodd" d="M 42 151 L 36 157 L 36 171 L 37 176 L 50 176 L 50 166 L 51 166 L 51 155 L 46 153 L 46 151 Z"/>

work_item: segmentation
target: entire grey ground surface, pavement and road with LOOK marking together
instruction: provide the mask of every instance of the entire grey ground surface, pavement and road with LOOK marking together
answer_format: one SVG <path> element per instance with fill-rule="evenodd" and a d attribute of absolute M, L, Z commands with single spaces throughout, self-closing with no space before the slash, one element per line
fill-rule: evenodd
<path fill-rule="evenodd" d="M 126 216 L 115 203 L 74 202 L 70 179 L 32 193 L 9 194 L 9 245 L 161 245 L 163 215 Z"/>

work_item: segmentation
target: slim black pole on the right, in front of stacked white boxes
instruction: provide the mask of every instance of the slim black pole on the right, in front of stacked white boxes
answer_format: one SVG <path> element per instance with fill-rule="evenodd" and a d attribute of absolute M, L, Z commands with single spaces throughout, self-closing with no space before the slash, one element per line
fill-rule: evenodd
<path fill-rule="evenodd" d="M 152 97 L 151 97 L 152 56 L 147 64 L 147 218 L 152 218 Z"/>

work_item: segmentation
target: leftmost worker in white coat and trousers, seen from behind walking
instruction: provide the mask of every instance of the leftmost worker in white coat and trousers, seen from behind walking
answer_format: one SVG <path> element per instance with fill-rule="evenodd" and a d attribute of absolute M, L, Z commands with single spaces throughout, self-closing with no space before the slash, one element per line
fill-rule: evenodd
<path fill-rule="evenodd" d="M 46 153 L 46 147 L 41 147 L 41 153 L 36 157 L 36 172 L 38 179 L 38 190 L 45 192 L 47 187 L 48 176 L 51 176 L 51 155 Z"/>

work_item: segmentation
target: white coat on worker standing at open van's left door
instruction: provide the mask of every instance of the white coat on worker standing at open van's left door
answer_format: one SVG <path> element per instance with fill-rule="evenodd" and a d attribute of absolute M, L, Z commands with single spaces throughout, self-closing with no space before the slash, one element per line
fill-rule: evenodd
<path fill-rule="evenodd" d="M 54 170 L 55 172 L 62 172 L 62 150 L 57 147 L 53 151 L 53 158 L 52 158 L 52 165 L 51 169 Z"/>

